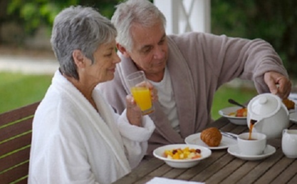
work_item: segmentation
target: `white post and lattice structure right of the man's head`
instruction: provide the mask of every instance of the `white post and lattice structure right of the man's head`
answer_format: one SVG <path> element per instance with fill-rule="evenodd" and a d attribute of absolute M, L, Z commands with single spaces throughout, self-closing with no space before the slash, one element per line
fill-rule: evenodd
<path fill-rule="evenodd" d="M 167 20 L 166 33 L 211 31 L 211 0 L 154 0 Z"/>

